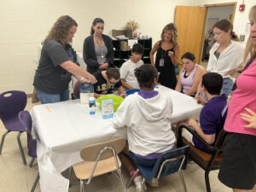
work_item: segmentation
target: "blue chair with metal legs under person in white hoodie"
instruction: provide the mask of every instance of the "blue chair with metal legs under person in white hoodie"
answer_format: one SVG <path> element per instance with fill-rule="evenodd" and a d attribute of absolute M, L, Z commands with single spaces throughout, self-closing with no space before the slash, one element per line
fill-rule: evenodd
<path fill-rule="evenodd" d="M 165 177 L 174 172 L 179 172 L 183 191 L 187 191 L 181 169 L 186 169 L 188 156 L 189 146 L 184 146 L 182 148 L 169 150 L 161 154 L 156 160 L 154 166 L 141 166 L 135 162 L 137 171 L 132 174 L 130 181 L 127 183 L 127 188 L 129 188 L 131 181 L 137 172 L 140 172 L 143 175 L 143 186 L 145 185 L 145 182 L 150 183 L 154 179 L 154 182 L 158 183 L 160 177 Z M 145 187 L 143 187 L 143 189 L 145 189 Z"/>

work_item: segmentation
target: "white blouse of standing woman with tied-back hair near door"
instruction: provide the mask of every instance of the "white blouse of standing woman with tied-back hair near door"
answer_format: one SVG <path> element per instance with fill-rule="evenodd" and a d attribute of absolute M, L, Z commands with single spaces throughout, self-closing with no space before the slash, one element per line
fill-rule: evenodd
<path fill-rule="evenodd" d="M 214 52 L 218 49 L 219 44 L 215 43 L 210 50 L 210 58 L 207 65 L 208 72 L 218 73 L 224 78 L 230 76 L 224 76 L 225 73 L 240 67 L 243 61 L 244 49 L 239 42 L 231 41 L 231 44 L 222 51 L 218 57 L 214 55 Z M 234 78 L 230 77 L 234 81 Z"/>

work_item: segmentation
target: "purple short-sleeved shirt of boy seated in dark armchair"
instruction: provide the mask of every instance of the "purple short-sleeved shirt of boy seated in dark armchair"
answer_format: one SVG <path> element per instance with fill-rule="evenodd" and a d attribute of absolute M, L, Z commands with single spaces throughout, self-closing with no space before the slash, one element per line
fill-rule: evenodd
<path fill-rule="evenodd" d="M 224 121 L 228 111 L 227 108 L 227 96 L 215 96 L 201 109 L 201 129 L 206 135 L 215 134 L 215 141 L 218 137 L 218 133 L 224 128 Z M 193 142 L 196 148 L 209 152 L 197 138 L 193 137 Z"/>

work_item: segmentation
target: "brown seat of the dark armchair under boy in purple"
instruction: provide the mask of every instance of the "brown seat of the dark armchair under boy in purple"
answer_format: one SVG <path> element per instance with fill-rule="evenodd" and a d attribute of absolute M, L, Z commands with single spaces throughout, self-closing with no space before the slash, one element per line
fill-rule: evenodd
<path fill-rule="evenodd" d="M 201 151 L 198 148 L 195 148 L 195 146 L 192 145 L 191 143 L 189 143 L 185 138 L 183 138 L 183 143 L 185 145 L 190 146 L 189 157 L 192 160 L 194 160 L 199 166 L 201 166 L 202 169 L 206 170 L 207 165 L 208 165 L 209 161 L 212 158 L 212 154 L 208 154 L 204 151 Z M 211 170 L 219 169 L 219 166 L 220 166 L 220 163 L 221 163 L 222 159 L 223 159 L 223 153 L 218 154 L 214 163 L 213 163 L 213 165 L 212 165 Z"/>

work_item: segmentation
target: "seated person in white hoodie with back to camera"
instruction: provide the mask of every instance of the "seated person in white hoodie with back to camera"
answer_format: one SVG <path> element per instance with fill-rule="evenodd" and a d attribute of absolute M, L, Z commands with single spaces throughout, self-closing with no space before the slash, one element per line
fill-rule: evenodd
<path fill-rule="evenodd" d="M 172 131 L 172 99 L 154 90 L 157 71 L 151 65 L 135 69 L 140 92 L 127 96 L 113 117 L 115 129 L 126 128 L 128 143 L 120 160 L 132 175 L 136 167 L 154 166 L 160 154 L 174 148 L 176 138 Z M 142 177 L 134 178 L 137 191 L 142 189 Z"/>

